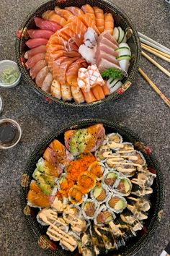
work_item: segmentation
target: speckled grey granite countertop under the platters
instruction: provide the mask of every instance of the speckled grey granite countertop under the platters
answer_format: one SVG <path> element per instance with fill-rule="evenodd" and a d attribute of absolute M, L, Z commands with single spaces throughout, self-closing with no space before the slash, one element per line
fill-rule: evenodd
<path fill-rule="evenodd" d="M 120 6 L 133 20 L 135 26 L 145 35 L 169 45 L 170 5 L 164 0 L 118 0 Z M 41 0 L 36 1 L 40 5 Z M 0 1 L 0 60 L 15 59 L 15 33 L 24 17 L 35 8 L 35 1 Z M 152 56 L 158 63 L 169 69 L 166 61 Z M 170 98 L 169 79 L 148 60 L 141 59 L 140 67 L 161 91 Z M 138 133 L 151 146 L 164 173 L 166 205 L 164 218 L 150 242 L 138 256 L 159 256 L 170 237 L 170 189 L 169 189 L 169 108 L 158 97 L 143 77 L 138 74 L 133 86 L 117 101 L 94 108 L 93 111 L 64 110 L 51 106 L 34 93 L 24 81 L 16 88 L 1 90 L 4 111 L 0 118 L 12 118 L 22 127 L 22 140 L 12 150 L 0 150 L 0 255 L 33 256 L 46 255 L 37 246 L 27 230 L 20 208 L 20 177 L 29 154 L 43 137 L 53 128 L 60 127 L 75 119 L 99 117 L 112 119 Z"/>

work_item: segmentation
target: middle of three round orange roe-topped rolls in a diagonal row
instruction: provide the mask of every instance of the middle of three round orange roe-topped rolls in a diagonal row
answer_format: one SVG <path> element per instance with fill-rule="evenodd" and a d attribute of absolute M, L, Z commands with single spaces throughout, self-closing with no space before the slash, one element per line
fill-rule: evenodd
<path fill-rule="evenodd" d="M 96 176 L 89 171 L 84 172 L 79 176 L 77 184 L 83 194 L 90 192 L 96 184 Z"/>

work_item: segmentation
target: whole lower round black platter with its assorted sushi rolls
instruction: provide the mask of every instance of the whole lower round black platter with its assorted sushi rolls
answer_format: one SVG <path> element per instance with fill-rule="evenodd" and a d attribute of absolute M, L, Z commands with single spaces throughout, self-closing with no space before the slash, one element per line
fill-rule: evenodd
<path fill-rule="evenodd" d="M 22 176 L 27 226 L 53 255 L 135 254 L 158 226 L 163 194 L 151 149 L 104 120 L 55 130 Z"/>

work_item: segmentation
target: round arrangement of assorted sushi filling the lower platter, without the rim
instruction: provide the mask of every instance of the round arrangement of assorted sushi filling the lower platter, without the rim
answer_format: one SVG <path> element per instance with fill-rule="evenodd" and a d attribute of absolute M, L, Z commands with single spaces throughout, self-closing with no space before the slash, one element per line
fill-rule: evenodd
<path fill-rule="evenodd" d="M 40 208 L 37 221 L 62 249 L 78 247 L 83 256 L 120 249 L 143 229 L 156 174 L 102 124 L 66 131 L 64 144 L 53 140 L 37 162 L 27 205 Z"/>

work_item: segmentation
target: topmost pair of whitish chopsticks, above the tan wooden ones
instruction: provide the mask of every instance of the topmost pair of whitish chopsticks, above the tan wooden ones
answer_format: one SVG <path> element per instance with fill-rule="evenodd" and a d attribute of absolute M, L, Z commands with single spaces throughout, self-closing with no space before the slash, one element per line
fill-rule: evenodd
<path fill-rule="evenodd" d="M 170 49 L 167 48 L 166 46 L 163 46 L 161 43 L 158 43 L 155 40 L 148 38 L 148 36 L 143 35 L 140 32 L 138 32 L 138 35 L 140 36 L 141 42 L 146 43 L 148 44 L 148 46 L 152 46 L 153 48 L 156 48 L 159 51 L 163 51 L 166 54 L 170 54 Z"/>

